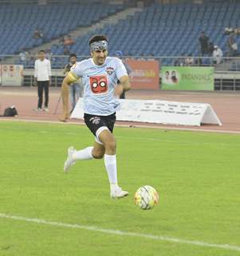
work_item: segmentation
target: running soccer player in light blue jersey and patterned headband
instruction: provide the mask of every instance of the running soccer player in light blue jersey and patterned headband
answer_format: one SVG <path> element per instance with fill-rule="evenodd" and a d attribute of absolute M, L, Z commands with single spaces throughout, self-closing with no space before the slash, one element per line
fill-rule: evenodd
<path fill-rule="evenodd" d="M 116 109 L 119 106 L 117 97 L 125 90 L 130 90 L 130 82 L 123 62 L 116 57 L 108 56 L 108 38 L 95 35 L 89 40 L 92 58 L 77 62 L 69 74 L 64 78 L 61 86 L 63 100 L 63 115 L 65 121 L 69 115 L 69 85 L 78 78 L 84 84 L 84 119 L 95 136 L 94 146 L 83 150 L 68 149 L 68 158 L 64 170 L 77 160 L 104 158 L 104 165 L 110 183 L 110 197 L 123 198 L 128 195 L 118 186 L 116 171 L 116 141 L 112 130 L 116 121 Z M 120 84 L 117 84 L 117 81 Z"/>

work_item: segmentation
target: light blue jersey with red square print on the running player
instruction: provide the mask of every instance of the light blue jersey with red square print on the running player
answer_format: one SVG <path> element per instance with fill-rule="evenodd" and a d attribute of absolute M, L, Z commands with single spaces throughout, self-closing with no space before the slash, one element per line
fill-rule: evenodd
<path fill-rule="evenodd" d="M 120 102 L 114 88 L 122 76 L 128 75 L 119 58 L 107 57 L 101 66 L 96 65 L 92 58 L 85 59 L 77 62 L 71 73 L 82 79 L 85 114 L 106 116 L 116 112 Z"/>

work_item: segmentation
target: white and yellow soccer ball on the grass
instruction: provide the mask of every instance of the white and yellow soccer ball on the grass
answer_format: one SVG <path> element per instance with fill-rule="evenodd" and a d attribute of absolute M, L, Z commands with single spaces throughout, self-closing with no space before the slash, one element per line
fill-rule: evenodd
<path fill-rule="evenodd" d="M 134 202 L 142 210 L 150 210 L 159 202 L 159 194 L 152 186 L 141 186 L 134 195 Z"/>

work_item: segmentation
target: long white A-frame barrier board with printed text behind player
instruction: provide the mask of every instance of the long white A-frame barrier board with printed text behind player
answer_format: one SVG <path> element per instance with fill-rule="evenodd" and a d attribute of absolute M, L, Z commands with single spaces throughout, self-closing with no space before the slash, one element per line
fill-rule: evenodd
<path fill-rule="evenodd" d="M 150 122 L 183 126 L 216 124 L 222 126 L 217 114 L 207 103 L 167 102 L 160 100 L 121 99 L 116 120 Z M 71 118 L 83 118 L 83 101 L 79 99 Z"/>

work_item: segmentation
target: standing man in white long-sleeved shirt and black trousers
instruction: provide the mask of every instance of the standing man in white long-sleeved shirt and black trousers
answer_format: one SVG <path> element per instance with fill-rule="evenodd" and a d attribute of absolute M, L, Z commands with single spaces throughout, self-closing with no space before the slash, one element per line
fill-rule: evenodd
<path fill-rule="evenodd" d="M 37 84 L 38 104 L 36 111 L 41 111 L 42 94 L 45 92 L 45 111 L 49 111 L 49 86 L 51 85 L 51 62 L 45 58 L 45 50 L 38 52 L 38 59 L 34 65 L 34 78 Z"/>

